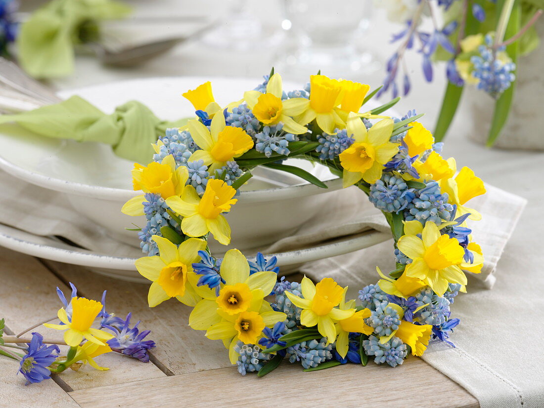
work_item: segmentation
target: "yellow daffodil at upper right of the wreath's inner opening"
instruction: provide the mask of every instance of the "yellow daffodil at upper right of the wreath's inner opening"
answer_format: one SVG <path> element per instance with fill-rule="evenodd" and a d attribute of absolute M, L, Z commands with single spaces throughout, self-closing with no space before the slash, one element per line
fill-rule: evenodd
<path fill-rule="evenodd" d="M 343 185 L 348 187 L 361 179 L 374 183 L 381 177 L 384 164 L 398 152 L 398 145 L 389 141 L 393 121 L 384 119 L 367 131 L 361 118 L 350 112 L 347 129 L 355 142 L 339 156 L 344 168 Z"/>

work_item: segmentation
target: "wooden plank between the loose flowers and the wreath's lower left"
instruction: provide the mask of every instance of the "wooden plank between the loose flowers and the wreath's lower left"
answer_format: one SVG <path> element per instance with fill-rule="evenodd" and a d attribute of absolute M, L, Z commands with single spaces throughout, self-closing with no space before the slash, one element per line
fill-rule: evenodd
<path fill-rule="evenodd" d="M 149 338 L 157 342 L 157 348 L 152 351 L 153 361 L 165 372 L 186 374 L 231 366 L 220 341 L 208 340 L 203 331 L 188 327 L 190 308 L 176 299 L 150 308 L 147 306 L 149 285 L 103 277 L 67 263 L 44 262 L 65 282 L 84 288 L 92 298 L 99 298 L 107 289 L 108 311 L 118 316 L 131 311 L 134 319 L 141 320 L 139 327 L 151 330 Z"/>

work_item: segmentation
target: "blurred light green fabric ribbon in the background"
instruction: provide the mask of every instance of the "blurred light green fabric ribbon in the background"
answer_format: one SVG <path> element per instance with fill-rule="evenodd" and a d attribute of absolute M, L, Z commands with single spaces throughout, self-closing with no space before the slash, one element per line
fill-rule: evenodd
<path fill-rule="evenodd" d="M 112 0 L 53 0 L 36 10 L 17 35 L 20 65 L 35 78 L 73 72 L 74 47 L 98 38 L 98 22 L 125 17 L 131 8 Z"/>

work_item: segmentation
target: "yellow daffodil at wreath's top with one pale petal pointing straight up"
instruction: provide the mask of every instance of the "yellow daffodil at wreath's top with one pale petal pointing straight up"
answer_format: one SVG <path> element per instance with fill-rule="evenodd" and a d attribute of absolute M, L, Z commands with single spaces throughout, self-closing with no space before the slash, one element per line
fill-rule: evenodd
<path fill-rule="evenodd" d="M 296 123 L 293 116 L 300 115 L 308 104 L 306 98 L 290 98 L 282 101 L 283 86 L 280 74 L 274 74 L 267 84 L 266 93 L 248 91 L 244 99 L 257 120 L 266 126 L 283 123 L 283 130 L 294 135 L 306 133 L 308 129 Z"/>

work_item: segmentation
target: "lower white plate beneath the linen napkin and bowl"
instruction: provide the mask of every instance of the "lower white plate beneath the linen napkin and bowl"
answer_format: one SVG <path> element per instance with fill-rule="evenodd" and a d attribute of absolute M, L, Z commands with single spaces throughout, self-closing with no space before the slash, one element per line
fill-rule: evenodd
<path fill-rule="evenodd" d="M 390 234 L 372 230 L 339 238 L 322 246 L 272 255 L 277 256 L 281 273 L 288 273 L 295 271 L 302 263 L 347 254 L 357 249 L 387 241 L 390 238 Z M 30 234 L 7 225 L 0 224 L 0 245 L 38 258 L 85 266 L 94 272 L 109 277 L 131 282 L 149 283 L 136 272 L 134 267 L 135 258 L 98 254 L 72 247 L 54 237 Z"/>

